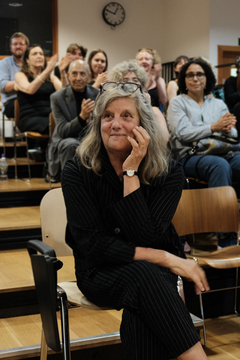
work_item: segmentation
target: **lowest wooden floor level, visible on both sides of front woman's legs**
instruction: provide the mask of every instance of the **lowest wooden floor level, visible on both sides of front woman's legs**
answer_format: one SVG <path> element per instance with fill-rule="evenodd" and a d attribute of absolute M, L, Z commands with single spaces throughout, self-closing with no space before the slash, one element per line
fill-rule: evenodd
<path fill-rule="evenodd" d="M 69 311 L 70 337 L 72 349 L 87 346 L 88 340 L 106 333 L 118 333 L 121 312 L 92 311 L 87 309 L 71 309 Z M 207 319 L 207 346 L 205 352 L 210 360 L 240 359 L 240 319 L 229 315 L 217 319 Z M 81 342 L 82 339 L 82 342 Z M 9 354 L 17 353 L 25 358 L 33 345 L 34 354 L 40 349 L 41 320 L 39 315 L 23 316 L 0 320 L 0 359 L 9 358 Z M 99 337 L 101 341 L 101 337 Z M 116 335 L 116 343 L 118 343 Z M 89 342 L 88 342 L 89 344 Z M 12 351 L 14 352 L 11 352 Z M 14 349 L 14 350 L 13 350 Z M 21 357 L 23 356 L 23 357 Z M 146 359 L 147 360 L 147 359 Z"/>

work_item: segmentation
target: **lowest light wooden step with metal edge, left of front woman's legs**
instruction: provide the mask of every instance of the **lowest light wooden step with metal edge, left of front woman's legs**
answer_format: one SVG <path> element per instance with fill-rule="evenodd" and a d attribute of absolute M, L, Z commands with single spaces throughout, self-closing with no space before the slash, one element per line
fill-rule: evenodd
<path fill-rule="evenodd" d="M 114 336 L 111 344 L 120 343 L 120 322 L 121 312 L 115 310 L 69 310 L 71 348 L 76 350 L 93 344 L 107 345 L 108 337 L 105 334 Z M 24 359 L 39 355 L 41 329 L 40 315 L 0 319 L 0 359 L 15 359 L 16 356 Z"/>

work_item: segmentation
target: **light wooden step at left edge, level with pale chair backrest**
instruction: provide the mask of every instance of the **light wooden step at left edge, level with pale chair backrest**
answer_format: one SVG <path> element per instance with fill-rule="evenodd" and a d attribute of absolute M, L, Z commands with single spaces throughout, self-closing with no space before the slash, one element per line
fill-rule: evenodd
<path fill-rule="evenodd" d="M 0 231 L 40 228 L 39 206 L 0 209 Z"/>

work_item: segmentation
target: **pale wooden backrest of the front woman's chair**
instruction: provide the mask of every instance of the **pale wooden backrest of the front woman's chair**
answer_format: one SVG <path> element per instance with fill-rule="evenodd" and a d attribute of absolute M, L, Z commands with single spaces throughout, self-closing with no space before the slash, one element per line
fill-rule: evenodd
<path fill-rule="evenodd" d="M 62 188 L 48 191 L 40 204 L 42 240 L 56 251 L 57 256 L 72 255 L 65 243 L 67 224 L 66 207 Z"/>

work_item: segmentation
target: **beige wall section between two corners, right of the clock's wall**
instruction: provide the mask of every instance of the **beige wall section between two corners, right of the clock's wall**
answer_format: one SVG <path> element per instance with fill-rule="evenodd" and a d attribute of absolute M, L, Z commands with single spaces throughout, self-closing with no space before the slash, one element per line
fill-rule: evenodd
<path fill-rule="evenodd" d="M 209 58 L 210 0 L 162 0 L 162 3 L 163 61 L 173 61 L 179 55 Z"/>

